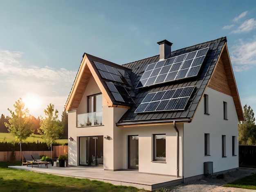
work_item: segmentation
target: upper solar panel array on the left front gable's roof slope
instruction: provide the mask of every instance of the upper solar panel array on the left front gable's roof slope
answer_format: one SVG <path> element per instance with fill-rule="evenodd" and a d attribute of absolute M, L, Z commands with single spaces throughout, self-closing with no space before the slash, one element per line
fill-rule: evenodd
<path fill-rule="evenodd" d="M 112 80 L 119 83 L 128 84 L 129 76 L 126 74 L 126 71 L 123 69 L 117 69 L 109 65 L 105 65 L 99 62 L 94 61 L 99 73 L 102 78 Z"/>

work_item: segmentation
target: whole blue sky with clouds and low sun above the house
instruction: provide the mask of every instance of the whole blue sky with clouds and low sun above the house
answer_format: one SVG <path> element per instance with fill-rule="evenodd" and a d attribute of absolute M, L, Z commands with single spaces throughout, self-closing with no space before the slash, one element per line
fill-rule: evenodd
<path fill-rule="evenodd" d="M 59 114 L 83 53 L 119 65 L 227 36 L 242 106 L 256 112 L 254 0 L 0 0 L 0 114 L 20 97 Z M 25 102 L 25 103 L 26 103 Z"/>

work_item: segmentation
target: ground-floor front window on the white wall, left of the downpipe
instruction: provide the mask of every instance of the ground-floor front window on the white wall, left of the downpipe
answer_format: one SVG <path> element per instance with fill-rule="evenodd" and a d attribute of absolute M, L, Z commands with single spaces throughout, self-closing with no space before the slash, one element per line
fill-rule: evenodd
<path fill-rule="evenodd" d="M 165 134 L 154 135 L 154 160 L 165 161 Z"/>

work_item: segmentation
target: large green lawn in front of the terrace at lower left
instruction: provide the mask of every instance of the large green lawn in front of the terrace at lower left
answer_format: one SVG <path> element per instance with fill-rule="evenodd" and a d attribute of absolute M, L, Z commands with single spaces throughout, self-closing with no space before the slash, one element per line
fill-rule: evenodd
<path fill-rule="evenodd" d="M 53 174 L 37 173 L 8 168 L 8 165 L 21 165 L 17 162 L 0 162 L 1 192 L 142 192 L 134 187 L 117 186 L 101 181 L 77 179 Z"/>

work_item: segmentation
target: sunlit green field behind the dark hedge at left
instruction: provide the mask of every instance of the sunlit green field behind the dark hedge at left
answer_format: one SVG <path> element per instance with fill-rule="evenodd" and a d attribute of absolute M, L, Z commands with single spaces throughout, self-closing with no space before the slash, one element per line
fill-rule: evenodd
<path fill-rule="evenodd" d="M 15 141 L 15 136 L 13 136 L 10 133 L 0 133 L 0 142 L 7 142 L 7 143 L 11 143 L 12 141 Z M 27 143 L 33 143 L 37 141 L 40 143 L 45 143 L 45 141 L 42 138 L 42 135 L 37 135 L 37 134 L 31 134 L 31 136 L 29 136 L 24 142 Z M 64 145 L 65 143 L 67 143 L 67 139 L 57 139 L 56 143 L 58 143 L 59 145 Z"/>

